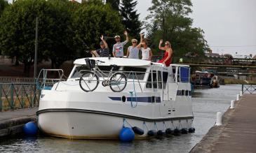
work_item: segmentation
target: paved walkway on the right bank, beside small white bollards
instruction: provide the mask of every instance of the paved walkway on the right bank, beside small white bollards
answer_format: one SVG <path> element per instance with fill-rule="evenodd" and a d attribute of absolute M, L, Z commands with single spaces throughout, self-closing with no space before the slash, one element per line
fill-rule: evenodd
<path fill-rule="evenodd" d="M 256 152 L 256 94 L 246 94 L 224 113 L 191 152 Z"/>

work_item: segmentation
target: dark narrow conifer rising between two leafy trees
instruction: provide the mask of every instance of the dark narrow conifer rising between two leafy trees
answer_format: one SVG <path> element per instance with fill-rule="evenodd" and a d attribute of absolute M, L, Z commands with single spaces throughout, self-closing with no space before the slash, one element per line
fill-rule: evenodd
<path fill-rule="evenodd" d="M 123 17 L 122 23 L 126 27 L 126 29 L 130 29 L 130 36 L 135 38 L 139 38 L 139 33 L 141 31 L 142 23 L 139 20 L 139 15 L 137 14 L 137 10 L 135 6 L 137 5 L 137 1 L 133 0 L 122 0 L 120 6 L 120 13 Z"/>

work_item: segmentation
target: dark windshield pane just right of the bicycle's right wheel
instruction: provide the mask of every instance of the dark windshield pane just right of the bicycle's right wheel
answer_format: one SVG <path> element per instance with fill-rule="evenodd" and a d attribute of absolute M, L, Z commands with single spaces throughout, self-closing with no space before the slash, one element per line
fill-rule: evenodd
<path fill-rule="evenodd" d="M 143 80 L 147 68 L 137 68 L 124 66 L 123 71 L 126 73 L 127 78 L 134 80 Z"/>

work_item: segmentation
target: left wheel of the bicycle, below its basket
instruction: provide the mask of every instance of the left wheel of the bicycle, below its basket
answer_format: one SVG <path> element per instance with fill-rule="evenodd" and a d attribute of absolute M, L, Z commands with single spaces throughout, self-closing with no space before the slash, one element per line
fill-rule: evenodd
<path fill-rule="evenodd" d="M 96 73 L 91 71 L 84 71 L 79 79 L 79 85 L 85 92 L 93 92 L 99 85 L 99 78 Z"/>

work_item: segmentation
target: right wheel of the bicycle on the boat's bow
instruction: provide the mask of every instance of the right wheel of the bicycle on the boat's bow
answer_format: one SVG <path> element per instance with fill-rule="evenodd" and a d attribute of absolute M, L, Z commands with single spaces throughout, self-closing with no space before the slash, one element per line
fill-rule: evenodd
<path fill-rule="evenodd" d="M 113 92 L 121 92 L 126 88 L 127 78 L 123 73 L 114 73 L 109 80 L 109 87 Z"/>

